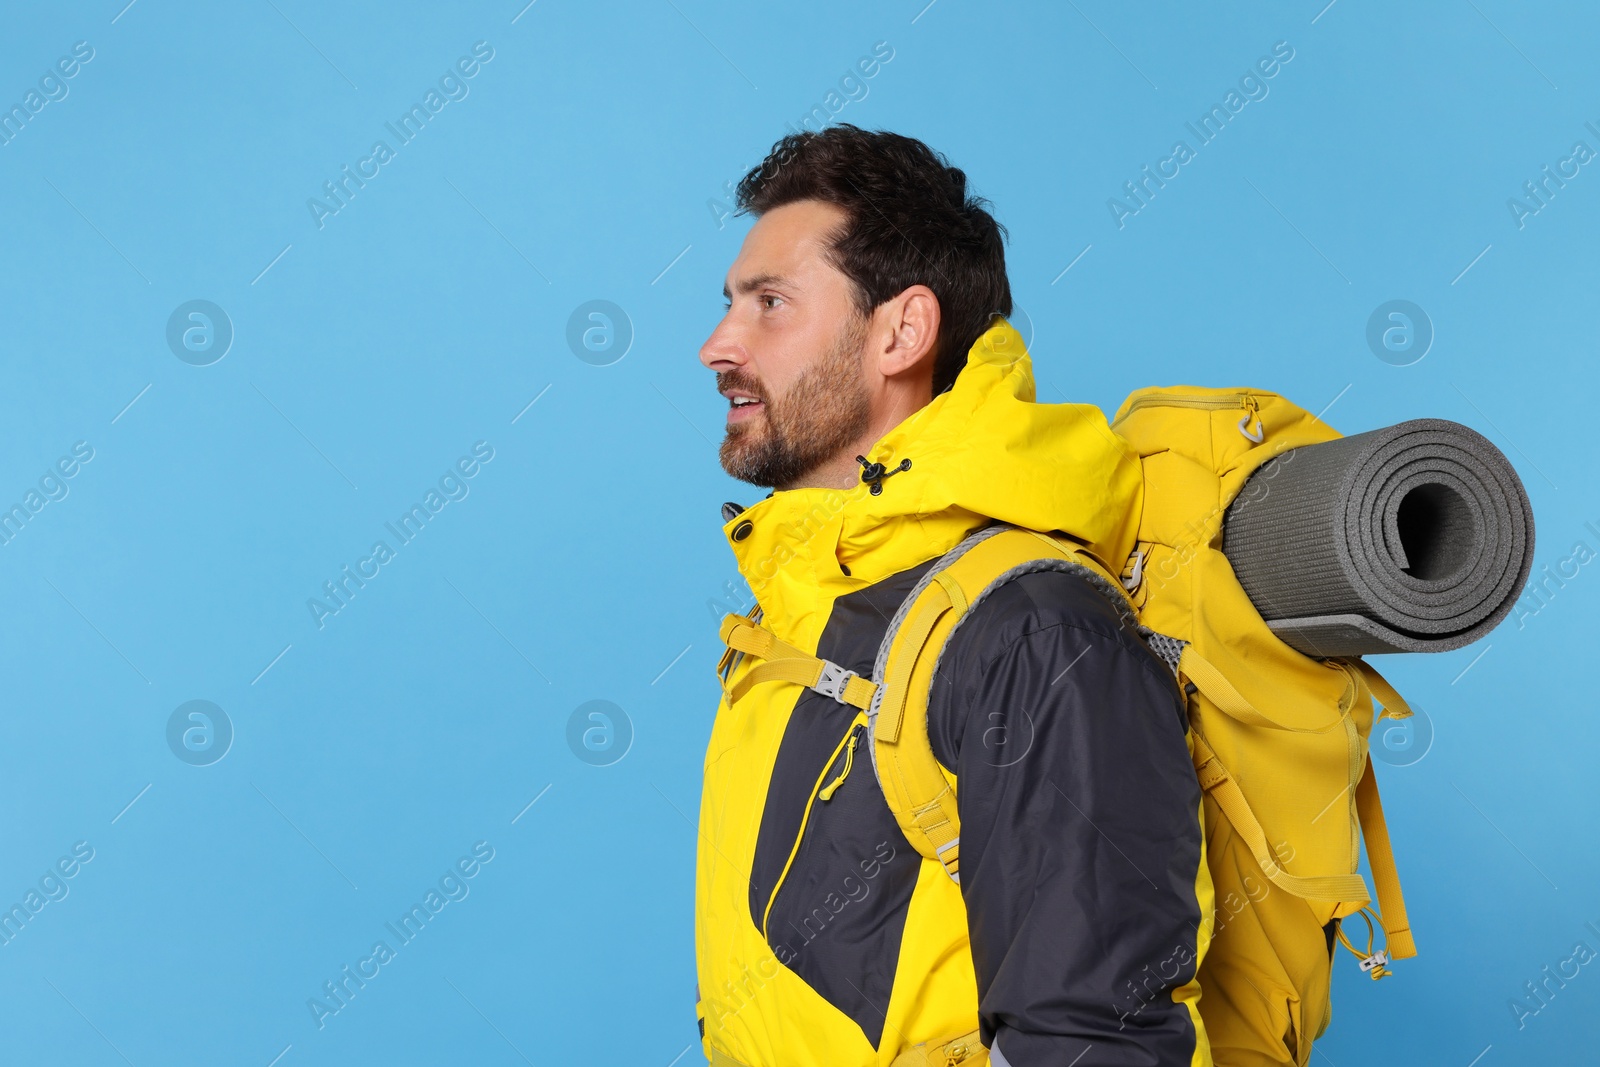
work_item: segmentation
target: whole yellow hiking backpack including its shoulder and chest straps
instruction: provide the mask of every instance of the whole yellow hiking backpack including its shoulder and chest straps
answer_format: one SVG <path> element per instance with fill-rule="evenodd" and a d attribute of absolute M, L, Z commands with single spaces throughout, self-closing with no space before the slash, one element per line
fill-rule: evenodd
<path fill-rule="evenodd" d="M 1286 450 L 1339 435 L 1274 394 L 1198 387 L 1134 392 L 1112 429 L 1144 467 L 1130 560 L 1098 560 L 1037 531 L 979 530 L 901 605 L 870 681 L 829 678 L 832 664 L 749 617 L 728 616 L 723 643 L 730 654 L 766 661 L 744 685 L 832 685 L 837 699 L 869 712 L 869 752 L 896 822 L 960 881 L 955 777 L 928 741 L 939 654 L 962 616 L 1016 574 L 1056 568 L 1090 577 L 1138 619 L 1189 699 L 1214 888 L 1198 933 L 1200 1016 L 1214 1062 L 1304 1065 L 1328 1025 L 1334 937 L 1374 979 L 1389 973 L 1389 960 L 1416 955 L 1366 752 L 1374 696 L 1381 717 L 1411 710 L 1358 657 L 1312 659 L 1274 637 L 1221 545 L 1227 507 L 1250 475 Z M 1363 838 L 1376 909 L 1358 872 Z M 1368 921 L 1365 950 L 1336 923 L 1355 913 Z M 1373 947 L 1374 921 L 1386 950 Z"/>

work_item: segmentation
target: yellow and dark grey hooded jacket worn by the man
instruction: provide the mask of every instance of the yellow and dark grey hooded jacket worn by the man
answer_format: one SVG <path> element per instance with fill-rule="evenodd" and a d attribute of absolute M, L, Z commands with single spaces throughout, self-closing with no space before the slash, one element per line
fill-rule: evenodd
<path fill-rule="evenodd" d="M 917 577 L 979 526 L 1058 531 L 1112 573 L 1133 549 L 1138 459 L 1098 408 L 1035 403 L 1005 322 L 869 459 L 891 469 L 878 493 L 773 493 L 723 526 L 762 625 L 858 673 Z M 1210 883 L 1171 672 L 1070 574 L 1024 576 L 974 613 L 928 707 L 962 781 L 960 885 L 901 837 L 862 712 L 784 681 L 723 697 L 696 869 L 712 1062 L 888 1067 L 947 1043 L 936 1062 L 1090 1046 L 1085 1062 L 1210 1062 L 1194 981 Z"/>

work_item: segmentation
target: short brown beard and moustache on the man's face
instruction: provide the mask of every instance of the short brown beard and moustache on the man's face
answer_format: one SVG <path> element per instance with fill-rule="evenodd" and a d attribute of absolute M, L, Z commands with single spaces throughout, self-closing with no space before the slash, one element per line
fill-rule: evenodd
<path fill-rule="evenodd" d="M 718 450 L 722 469 L 750 485 L 781 488 L 858 442 L 872 422 L 861 368 L 866 338 L 866 320 L 854 320 L 781 397 L 773 397 L 754 374 L 717 374 L 718 390 L 750 392 L 765 408 L 758 418 L 728 427 Z"/>

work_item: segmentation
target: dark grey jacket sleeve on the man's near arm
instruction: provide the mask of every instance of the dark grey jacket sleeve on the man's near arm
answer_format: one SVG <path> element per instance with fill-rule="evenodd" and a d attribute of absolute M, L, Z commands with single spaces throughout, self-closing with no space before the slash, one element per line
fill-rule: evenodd
<path fill-rule="evenodd" d="M 982 1041 L 997 1067 L 1189 1064 L 1173 992 L 1210 883 L 1178 685 L 1114 617 L 1000 629 L 1014 637 L 952 640 L 930 699 L 958 776 Z"/>

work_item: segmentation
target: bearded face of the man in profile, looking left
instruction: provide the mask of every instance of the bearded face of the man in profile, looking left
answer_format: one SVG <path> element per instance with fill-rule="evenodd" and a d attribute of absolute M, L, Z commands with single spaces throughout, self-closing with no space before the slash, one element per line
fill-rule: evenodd
<path fill-rule="evenodd" d="M 862 373 L 867 320 L 826 259 L 842 208 L 800 200 L 750 227 L 728 270 L 728 314 L 701 346 L 728 398 L 722 467 L 787 488 L 850 448 L 870 424 Z"/>

